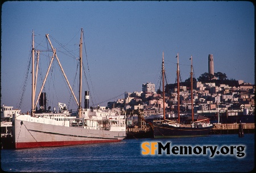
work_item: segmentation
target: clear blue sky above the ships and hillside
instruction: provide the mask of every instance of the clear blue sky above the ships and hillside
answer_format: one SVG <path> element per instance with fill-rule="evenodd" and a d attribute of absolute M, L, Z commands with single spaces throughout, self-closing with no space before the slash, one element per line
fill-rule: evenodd
<path fill-rule="evenodd" d="M 87 60 L 85 50 L 83 57 L 85 69 L 89 66 L 86 77 L 90 104 L 107 106 L 106 100 L 124 98 L 124 95 L 115 98 L 124 92 L 142 91 L 142 84 L 146 82 L 155 83 L 158 88 L 162 52 L 168 83 L 176 79 L 177 53 L 183 81 L 189 78 L 191 55 L 195 78 L 198 78 L 208 72 L 208 54 L 213 54 L 214 72 L 225 73 L 229 79 L 255 83 L 254 5 L 251 2 L 16 1 L 2 4 L 1 18 L 1 104 L 14 108 L 20 102 L 32 30 L 40 50 L 46 48 L 46 33 L 52 36 L 53 47 L 73 85 L 77 60 L 62 53 L 53 39 L 67 45 L 69 50 L 77 50 L 80 29 L 84 29 Z M 40 78 L 44 78 L 48 67 L 43 60 L 47 60 L 47 65 L 49 56 L 44 52 L 40 54 Z M 76 109 L 73 99 L 69 101 L 70 93 L 63 77 L 58 75 L 56 62 L 51 71 L 45 88 L 49 106 L 72 102 L 69 108 Z M 22 111 L 31 107 L 31 74 L 28 74 Z M 58 85 L 53 85 L 53 81 Z M 88 90 L 86 81 L 83 94 L 85 90 Z M 37 96 L 39 87 L 36 91 Z M 75 93 L 78 96 L 77 90 Z"/>

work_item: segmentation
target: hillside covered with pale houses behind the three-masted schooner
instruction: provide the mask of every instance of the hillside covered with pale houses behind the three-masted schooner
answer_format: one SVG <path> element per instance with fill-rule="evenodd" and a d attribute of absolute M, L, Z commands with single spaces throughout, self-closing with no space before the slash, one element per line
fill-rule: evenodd
<path fill-rule="evenodd" d="M 214 81 L 214 80 L 213 80 Z M 242 120 L 254 122 L 255 86 L 243 81 L 236 81 L 237 86 L 214 82 L 195 82 L 193 85 L 193 110 L 195 115 L 207 116 L 212 123 L 238 123 Z M 170 119 L 177 117 L 177 85 L 166 88 L 165 109 Z M 180 113 L 182 117 L 191 114 L 191 91 L 188 86 L 180 85 Z M 125 92 L 125 98 L 108 102 L 108 108 L 119 108 L 126 115 L 143 116 L 163 112 L 162 92 L 156 92 L 155 84 L 143 83 L 142 91 Z"/>

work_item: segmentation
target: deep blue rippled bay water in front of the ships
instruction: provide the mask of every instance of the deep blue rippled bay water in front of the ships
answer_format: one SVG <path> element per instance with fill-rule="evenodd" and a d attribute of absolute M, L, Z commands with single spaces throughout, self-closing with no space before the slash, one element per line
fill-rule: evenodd
<path fill-rule="evenodd" d="M 142 155 L 143 142 L 171 146 L 246 146 L 236 153 L 210 155 Z M 218 148 L 220 149 L 220 148 Z M 225 150 L 224 150 L 225 152 Z M 133 139 L 118 143 L 1 150 L 1 168 L 8 172 L 248 172 L 254 169 L 254 134 L 207 137 Z"/>

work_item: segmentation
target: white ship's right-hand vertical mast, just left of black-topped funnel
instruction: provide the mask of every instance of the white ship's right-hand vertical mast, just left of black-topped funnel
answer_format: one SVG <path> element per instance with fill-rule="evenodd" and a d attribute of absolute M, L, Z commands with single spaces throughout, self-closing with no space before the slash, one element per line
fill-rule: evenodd
<path fill-rule="evenodd" d="M 79 74 L 79 117 L 81 118 L 82 109 L 82 28 L 80 37 L 80 74 Z"/>

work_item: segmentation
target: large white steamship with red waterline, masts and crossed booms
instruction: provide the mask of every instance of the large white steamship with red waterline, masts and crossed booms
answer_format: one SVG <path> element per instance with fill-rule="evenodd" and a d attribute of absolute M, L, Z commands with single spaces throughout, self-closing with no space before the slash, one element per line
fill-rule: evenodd
<path fill-rule="evenodd" d="M 42 92 L 43 85 L 39 91 L 38 99 L 35 102 L 36 78 L 34 76 L 34 63 L 32 63 L 32 106 L 31 113 L 16 112 L 13 117 L 13 142 L 15 149 L 31 148 L 31 147 L 52 147 L 67 146 L 81 144 L 95 144 L 104 142 L 119 142 L 126 137 L 125 115 L 121 115 L 121 111 L 113 111 L 110 109 L 89 108 L 89 91 L 85 91 L 85 107 L 82 108 L 82 28 L 80 37 L 80 82 L 79 82 L 79 102 L 73 93 L 72 87 L 69 85 L 68 79 L 60 65 L 57 57 L 56 49 L 53 48 L 48 34 L 46 37 L 51 45 L 53 56 L 49 63 L 48 71 L 52 61 L 56 58 L 61 71 L 68 83 L 68 86 L 77 103 L 77 114 L 73 116 L 68 111 L 64 103 L 58 103 L 59 111 L 51 111 L 46 108 L 46 93 Z M 34 60 L 34 32 L 32 33 L 32 62 Z M 39 57 L 38 57 L 39 59 Z M 38 74 L 38 63 L 36 64 L 36 74 Z M 39 101 L 39 110 L 37 104 Z"/>

